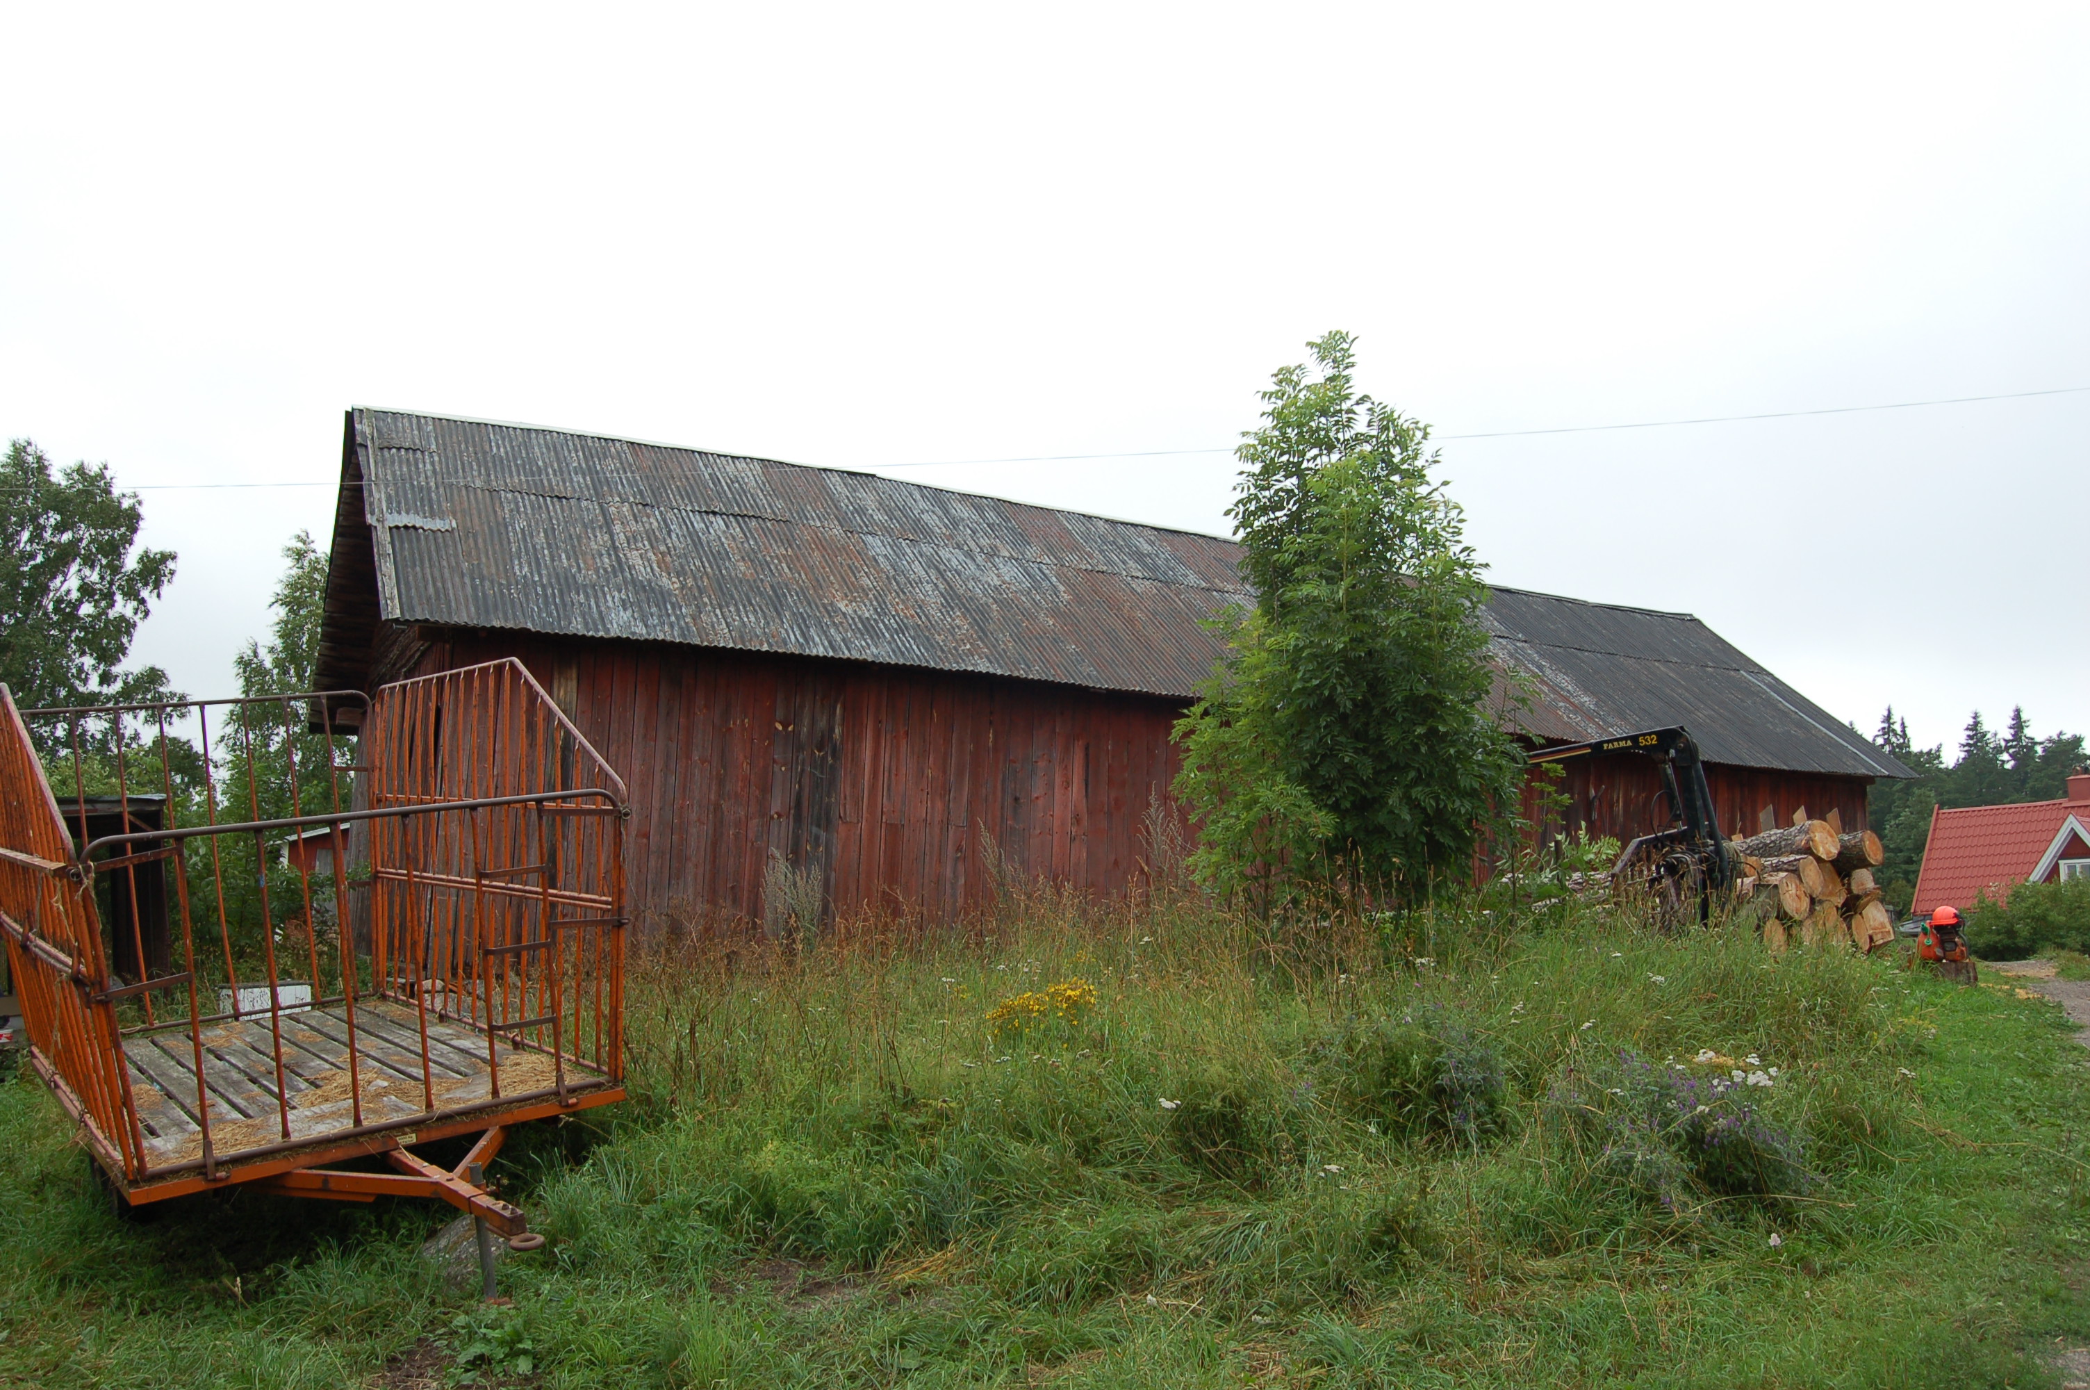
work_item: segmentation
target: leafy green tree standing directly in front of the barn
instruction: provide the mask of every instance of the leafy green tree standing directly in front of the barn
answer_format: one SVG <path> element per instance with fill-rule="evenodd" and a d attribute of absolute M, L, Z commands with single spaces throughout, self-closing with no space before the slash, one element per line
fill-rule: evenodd
<path fill-rule="evenodd" d="M 1177 723 L 1191 867 L 1269 911 L 1323 884 L 1425 893 L 1469 872 L 1524 757 L 1488 711 L 1488 589 L 1427 428 L 1352 380 L 1352 341 L 1279 370 L 1246 435 L 1233 518 L 1256 594 Z"/>

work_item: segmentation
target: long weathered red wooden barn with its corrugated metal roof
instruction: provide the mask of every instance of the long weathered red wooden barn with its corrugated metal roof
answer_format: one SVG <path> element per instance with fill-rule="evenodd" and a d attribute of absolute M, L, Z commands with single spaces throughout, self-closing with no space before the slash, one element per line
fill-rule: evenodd
<path fill-rule="evenodd" d="M 642 926 L 761 920 L 765 882 L 951 918 L 1001 872 L 1097 895 L 1143 872 L 1177 815 L 1170 727 L 1221 658 L 1204 621 L 1252 602 L 1239 556 L 867 472 L 351 410 L 316 686 L 520 658 L 631 788 Z M 1728 830 L 1802 805 L 1856 830 L 1866 786 L 1906 775 L 1697 619 L 1515 589 L 1486 617 L 1536 744 L 1680 723 Z M 1584 763 L 1563 824 L 1659 828 L 1655 786 L 1643 759 Z"/>

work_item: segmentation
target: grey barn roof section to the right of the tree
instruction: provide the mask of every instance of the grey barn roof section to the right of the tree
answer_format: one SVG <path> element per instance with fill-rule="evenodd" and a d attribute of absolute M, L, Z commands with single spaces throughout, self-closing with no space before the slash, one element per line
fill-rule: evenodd
<path fill-rule="evenodd" d="M 1682 725 L 1712 763 L 1914 775 L 1687 612 L 1496 589 L 1486 621 L 1496 658 L 1526 677 L 1517 723 L 1538 738 Z"/>

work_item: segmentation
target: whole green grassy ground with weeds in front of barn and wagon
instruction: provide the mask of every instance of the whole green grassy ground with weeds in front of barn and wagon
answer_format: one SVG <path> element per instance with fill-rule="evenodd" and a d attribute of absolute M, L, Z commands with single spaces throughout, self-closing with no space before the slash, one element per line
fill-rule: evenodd
<path fill-rule="evenodd" d="M 1039 897 L 986 945 L 646 959 L 635 1102 L 497 1166 L 552 1235 L 510 1313 L 416 1258 L 433 1206 L 121 1225 L 21 1074 L 0 1386 L 343 1386 L 431 1344 L 545 1386 L 2031 1386 L 2027 1346 L 2090 1340 L 2052 1005 L 1545 918 Z"/>

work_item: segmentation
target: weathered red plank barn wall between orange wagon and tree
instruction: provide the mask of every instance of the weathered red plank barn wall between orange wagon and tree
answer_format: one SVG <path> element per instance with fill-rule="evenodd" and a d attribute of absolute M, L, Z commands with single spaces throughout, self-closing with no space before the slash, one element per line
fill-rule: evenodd
<path fill-rule="evenodd" d="M 761 920 L 771 851 L 838 913 L 955 920 L 989 897 L 982 830 L 1024 874 L 1118 895 L 1177 771 L 1177 700 L 1041 681 L 516 633 L 431 633 L 397 675 L 497 656 L 623 769 L 642 924 Z"/>

